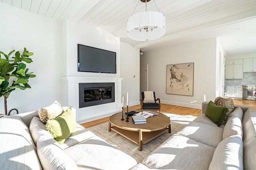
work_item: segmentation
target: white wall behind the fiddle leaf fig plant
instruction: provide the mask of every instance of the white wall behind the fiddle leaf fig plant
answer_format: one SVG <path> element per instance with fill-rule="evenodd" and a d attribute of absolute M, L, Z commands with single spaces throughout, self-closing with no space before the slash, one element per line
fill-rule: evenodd
<path fill-rule="evenodd" d="M 60 30 L 58 21 L 0 3 L 0 51 L 23 52 L 26 47 L 34 52 L 33 63 L 26 65 L 36 74 L 36 78 L 29 79 L 31 89 L 16 89 L 10 94 L 8 110 L 33 111 L 60 100 Z M 3 97 L 0 98 L 0 113 L 4 113 Z"/>

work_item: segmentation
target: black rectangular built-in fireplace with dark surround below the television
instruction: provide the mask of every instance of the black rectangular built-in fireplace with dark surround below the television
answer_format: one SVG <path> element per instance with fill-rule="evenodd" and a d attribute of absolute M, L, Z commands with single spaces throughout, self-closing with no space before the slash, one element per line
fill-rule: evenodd
<path fill-rule="evenodd" d="M 79 108 L 115 102 L 115 83 L 79 83 Z"/>

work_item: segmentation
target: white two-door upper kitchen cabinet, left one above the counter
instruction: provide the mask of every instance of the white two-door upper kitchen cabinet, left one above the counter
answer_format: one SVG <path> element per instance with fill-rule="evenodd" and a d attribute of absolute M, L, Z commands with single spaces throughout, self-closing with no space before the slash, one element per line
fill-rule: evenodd
<path fill-rule="evenodd" d="M 243 78 L 243 59 L 226 60 L 226 79 Z"/>

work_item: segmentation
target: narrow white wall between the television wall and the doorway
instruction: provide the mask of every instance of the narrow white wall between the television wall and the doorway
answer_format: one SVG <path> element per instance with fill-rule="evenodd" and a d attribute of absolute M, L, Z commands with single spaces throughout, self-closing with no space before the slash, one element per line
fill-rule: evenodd
<path fill-rule="evenodd" d="M 126 104 L 126 93 L 129 93 L 129 106 L 140 104 L 140 49 L 129 44 L 120 43 L 120 77 L 122 96 Z M 126 105 L 124 105 L 126 107 Z"/>

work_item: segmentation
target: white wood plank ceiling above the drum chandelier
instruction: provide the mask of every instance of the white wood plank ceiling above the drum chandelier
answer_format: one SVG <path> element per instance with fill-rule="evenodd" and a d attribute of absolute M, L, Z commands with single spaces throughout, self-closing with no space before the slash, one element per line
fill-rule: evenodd
<path fill-rule="evenodd" d="M 145 11 L 139 0 L 0 0 L 54 20 L 86 22 L 110 31 L 120 41 L 136 48 L 168 41 L 178 33 L 203 31 L 236 20 L 256 18 L 256 0 L 151 0 L 148 11 L 166 16 L 166 33 L 150 42 L 134 41 L 126 35 L 126 21 L 134 13 Z M 157 4 L 157 7 L 155 3 Z M 138 5 L 137 5 L 138 4 Z"/>

